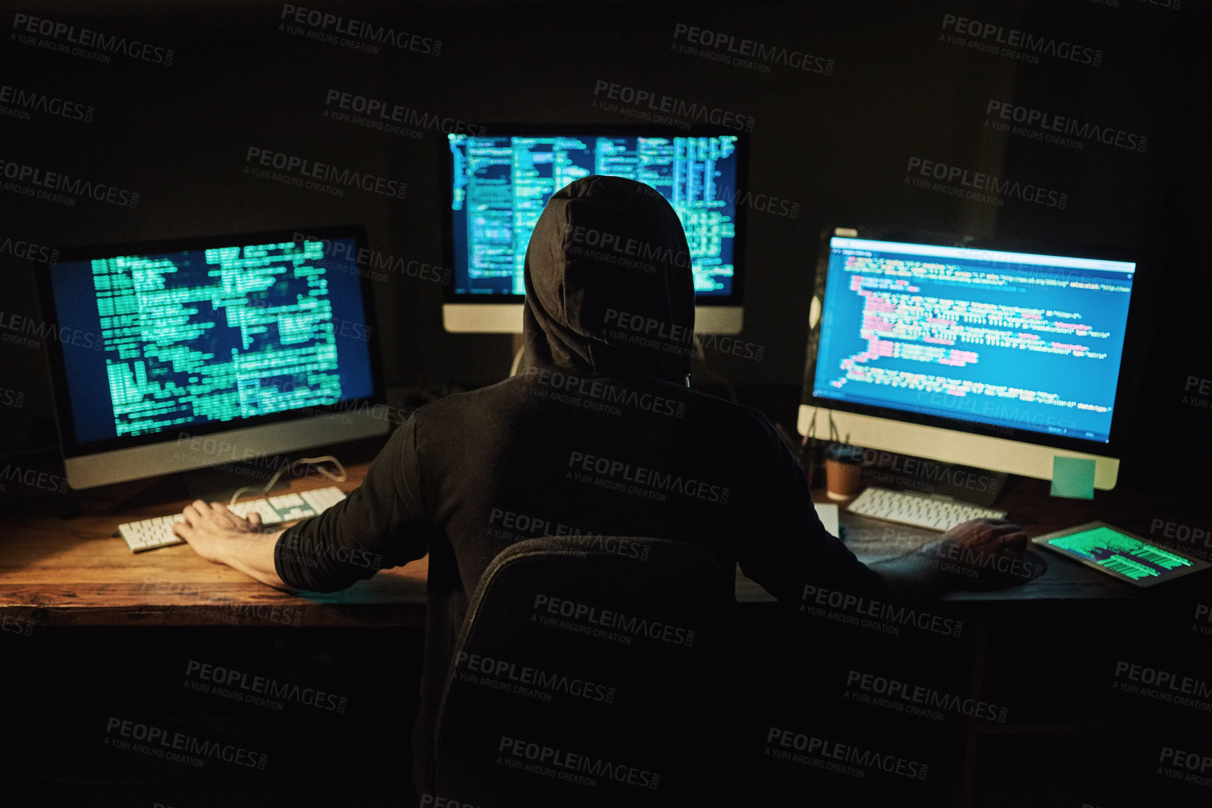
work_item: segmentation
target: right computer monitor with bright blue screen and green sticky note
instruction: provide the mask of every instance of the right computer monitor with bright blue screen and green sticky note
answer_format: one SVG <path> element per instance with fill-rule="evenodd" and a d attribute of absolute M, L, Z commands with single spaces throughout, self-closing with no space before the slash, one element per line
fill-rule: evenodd
<path fill-rule="evenodd" d="M 823 240 L 800 431 L 1050 480 L 1119 474 L 1136 264 L 836 229 Z M 966 243 L 967 242 L 967 243 Z M 954 246 L 961 243 L 964 246 Z"/>

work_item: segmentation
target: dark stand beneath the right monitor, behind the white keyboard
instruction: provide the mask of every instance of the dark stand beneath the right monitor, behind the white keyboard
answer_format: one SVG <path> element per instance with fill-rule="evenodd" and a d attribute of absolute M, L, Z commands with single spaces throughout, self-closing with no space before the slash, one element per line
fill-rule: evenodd
<path fill-rule="evenodd" d="M 898 488 L 991 506 L 1010 475 L 957 463 L 941 463 L 894 452 L 863 452 L 863 485 Z"/>

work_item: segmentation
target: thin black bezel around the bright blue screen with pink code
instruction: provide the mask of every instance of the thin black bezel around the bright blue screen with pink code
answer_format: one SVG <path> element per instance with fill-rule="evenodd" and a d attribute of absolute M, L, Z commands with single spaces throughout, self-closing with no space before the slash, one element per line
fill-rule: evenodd
<path fill-rule="evenodd" d="M 842 233 L 839 233 L 842 231 Z M 1108 441 L 1092 441 L 1080 437 L 1068 437 L 1064 435 L 1051 435 L 1048 432 L 1037 432 L 1029 429 L 1021 429 L 1014 426 L 1008 426 L 1004 424 L 993 423 L 973 423 L 957 418 L 945 418 L 942 416 L 933 416 L 927 413 L 915 413 L 903 409 L 896 409 L 892 407 L 880 407 L 875 405 L 858 403 L 853 401 L 846 401 L 840 399 L 824 399 L 817 397 L 814 394 L 814 382 L 817 372 L 817 351 L 821 346 L 821 328 L 824 323 L 824 292 L 829 274 L 829 257 L 830 257 L 830 239 L 834 236 L 850 237 L 850 239 L 870 239 L 873 241 L 899 241 L 908 243 L 921 243 L 921 245 L 937 245 L 944 247 L 966 247 L 971 250 L 994 250 L 1005 252 L 1019 252 L 1019 253 L 1034 253 L 1044 256 L 1056 256 L 1056 257 L 1073 257 L 1073 258 L 1092 258 L 1102 260 L 1119 260 L 1128 262 L 1136 264 L 1136 271 L 1133 273 L 1133 292 L 1137 291 L 1137 279 L 1140 274 L 1140 264 L 1138 260 L 1126 257 L 1121 252 L 1116 251 L 1114 247 L 1104 246 L 1075 246 L 1069 245 L 1057 245 L 1054 242 L 1050 243 L 1044 240 L 1030 240 L 1027 242 L 1022 239 L 1011 237 L 977 237 L 971 235 L 956 234 L 956 233 L 944 233 L 938 230 L 916 230 L 909 228 L 873 228 L 873 227 L 858 227 L 858 228 L 839 228 L 829 227 L 825 228 L 821 234 L 821 243 L 817 254 L 817 273 L 814 279 L 814 296 L 821 302 L 821 317 L 818 321 L 808 329 L 808 345 L 807 356 L 805 362 L 804 372 L 804 386 L 801 392 L 801 405 L 805 407 L 813 407 L 821 409 L 836 409 L 841 412 L 856 413 L 859 416 L 869 416 L 874 418 L 882 418 L 887 420 L 899 420 L 911 424 L 921 424 L 924 426 L 933 426 L 938 429 L 945 429 L 957 432 L 967 432 L 971 435 L 978 435 L 982 437 L 996 437 L 1000 440 L 1012 441 L 1017 443 L 1030 443 L 1035 446 L 1048 446 L 1059 449 L 1068 449 L 1071 452 L 1081 452 L 1086 454 L 1094 454 L 1098 457 L 1107 458 L 1121 458 L 1126 447 L 1126 440 L 1124 437 L 1124 420 L 1127 418 L 1125 412 L 1124 402 L 1126 401 L 1127 391 L 1127 378 L 1130 376 L 1127 371 L 1130 363 L 1128 346 L 1132 344 L 1133 339 L 1133 326 L 1136 320 L 1132 314 L 1136 308 L 1136 296 L 1133 294 L 1128 299 L 1128 315 L 1125 326 L 1125 340 L 1124 351 L 1120 356 L 1120 372 L 1119 379 L 1115 386 L 1115 401 L 1113 403 L 1111 411 L 1111 425 L 1108 435 Z M 993 431 L 996 430 L 996 431 Z M 819 437 L 819 436 L 818 436 Z"/>

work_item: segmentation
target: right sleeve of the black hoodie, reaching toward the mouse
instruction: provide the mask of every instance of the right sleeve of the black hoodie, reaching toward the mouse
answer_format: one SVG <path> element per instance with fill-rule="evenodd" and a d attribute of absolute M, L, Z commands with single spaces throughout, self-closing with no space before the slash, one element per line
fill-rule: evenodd
<path fill-rule="evenodd" d="M 886 600 L 884 579 L 825 531 L 804 469 L 770 422 L 762 418 L 762 425 L 767 432 L 762 511 L 738 548 L 742 572 L 788 606 L 804 601 L 806 586 Z"/>

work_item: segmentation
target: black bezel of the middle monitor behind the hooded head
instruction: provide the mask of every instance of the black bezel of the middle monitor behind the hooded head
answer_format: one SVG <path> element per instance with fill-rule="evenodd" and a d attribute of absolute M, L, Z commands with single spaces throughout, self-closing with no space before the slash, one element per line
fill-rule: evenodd
<path fill-rule="evenodd" d="M 743 130 L 733 130 L 715 126 L 691 126 L 688 130 L 671 126 L 638 126 L 635 124 L 509 124 L 490 122 L 481 127 L 476 134 L 461 132 L 469 137 L 525 137 L 538 136 L 550 137 L 556 134 L 585 136 L 590 134 L 606 137 L 710 137 L 720 134 L 737 136 L 737 188 L 739 194 L 745 189 L 749 171 L 749 134 Z M 444 265 L 450 267 L 454 276 L 458 268 L 454 267 L 454 216 L 451 205 L 454 200 L 454 156 L 450 149 L 450 137 L 440 141 L 442 159 L 439 161 L 441 174 L 439 176 L 439 188 L 441 190 L 442 205 L 442 258 Z M 733 229 L 736 235 L 732 239 L 732 292 L 728 294 L 696 294 L 694 306 L 744 306 L 745 286 L 745 231 L 748 230 L 748 210 L 743 205 L 733 207 Z M 459 293 L 454 288 L 454 280 L 444 290 L 445 303 L 457 303 L 465 305 L 522 305 L 525 294 L 470 294 Z"/>

